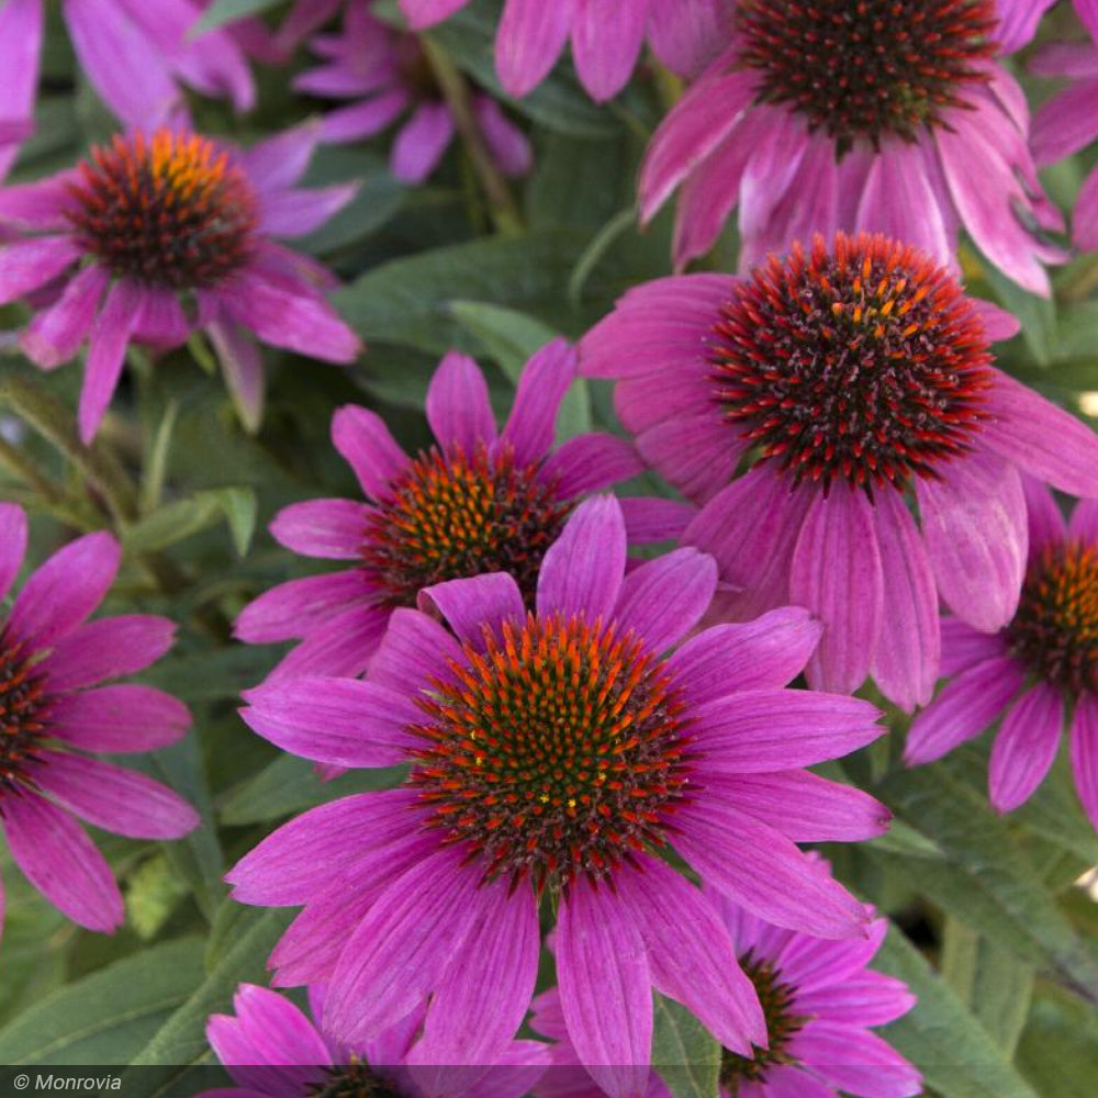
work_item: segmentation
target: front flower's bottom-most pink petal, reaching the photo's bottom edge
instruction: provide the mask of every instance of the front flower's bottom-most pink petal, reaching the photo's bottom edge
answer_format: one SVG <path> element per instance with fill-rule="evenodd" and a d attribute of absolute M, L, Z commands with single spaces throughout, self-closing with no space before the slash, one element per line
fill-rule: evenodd
<path fill-rule="evenodd" d="M 623 901 L 581 877 L 561 900 L 557 978 L 580 1061 L 610 1098 L 635 1098 L 652 1055 L 652 975 Z"/>

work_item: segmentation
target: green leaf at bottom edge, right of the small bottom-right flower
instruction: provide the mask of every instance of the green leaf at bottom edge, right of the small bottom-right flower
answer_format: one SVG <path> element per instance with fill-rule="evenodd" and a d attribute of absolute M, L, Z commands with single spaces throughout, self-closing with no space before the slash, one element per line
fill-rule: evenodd
<path fill-rule="evenodd" d="M 918 997 L 881 1035 L 922 1072 L 930 1089 L 942 1098 L 1039 1098 L 897 928 L 889 928 L 873 967 L 898 976 Z"/>

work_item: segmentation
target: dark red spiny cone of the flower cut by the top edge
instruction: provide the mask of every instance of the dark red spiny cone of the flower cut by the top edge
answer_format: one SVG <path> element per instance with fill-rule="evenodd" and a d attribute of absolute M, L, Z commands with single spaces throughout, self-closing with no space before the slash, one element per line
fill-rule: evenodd
<path fill-rule="evenodd" d="M 994 0 L 740 0 L 740 59 L 760 102 L 788 105 L 845 153 L 912 142 L 986 82 Z"/>

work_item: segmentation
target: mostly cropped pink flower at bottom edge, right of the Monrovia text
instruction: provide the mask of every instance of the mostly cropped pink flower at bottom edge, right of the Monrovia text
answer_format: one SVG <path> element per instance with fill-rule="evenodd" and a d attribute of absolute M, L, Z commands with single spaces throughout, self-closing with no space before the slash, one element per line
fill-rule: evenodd
<path fill-rule="evenodd" d="M 373 1040 L 348 1046 L 328 1033 L 324 1000 L 323 988 L 309 989 L 310 1021 L 278 993 L 240 984 L 233 997 L 236 1016 L 213 1015 L 206 1026 L 206 1040 L 236 1086 L 206 1090 L 200 1098 L 432 1098 L 429 1076 L 425 1078 L 422 1067 L 417 1071 L 408 1063 L 423 1023 L 422 1007 Z M 458 1024 L 469 1024 L 469 1019 Z M 450 1098 L 520 1098 L 537 1082 L 547 1058 L 546 1045 L 514 1041 L 491 1074 L 477 1077 L 448 1066 L 446 1094 Z M 427 1082 L 426 1089 L 421 1080 Z"/>

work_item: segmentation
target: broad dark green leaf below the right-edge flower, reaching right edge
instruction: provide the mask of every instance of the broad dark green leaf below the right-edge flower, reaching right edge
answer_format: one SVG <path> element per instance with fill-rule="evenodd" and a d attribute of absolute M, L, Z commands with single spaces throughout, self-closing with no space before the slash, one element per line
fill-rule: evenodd
<path fill-rule="evenodd" d="M 1057 908 L 1010 826 L 986 795 L 949 765 L 893 774 L 874 792 L 945 855 L 894 864 L 914 887 L 1020 960 L 1047 967 L 1065 986 L 1098 1002 L 1098 964 Z M 871 851 L 875 858 L 893 858 Z"/>

